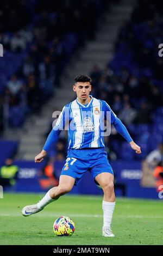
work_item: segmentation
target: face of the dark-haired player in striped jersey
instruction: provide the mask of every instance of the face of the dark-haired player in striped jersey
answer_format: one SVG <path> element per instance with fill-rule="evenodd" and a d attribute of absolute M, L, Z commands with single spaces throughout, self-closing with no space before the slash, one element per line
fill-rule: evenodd
<path fill-rule="evenodd" d="M 73 91 L 77 93 L 77 97 L 80 100 L 86 100 L 91 92 L 90 82 L 77 82 L 73 86 Z"/>

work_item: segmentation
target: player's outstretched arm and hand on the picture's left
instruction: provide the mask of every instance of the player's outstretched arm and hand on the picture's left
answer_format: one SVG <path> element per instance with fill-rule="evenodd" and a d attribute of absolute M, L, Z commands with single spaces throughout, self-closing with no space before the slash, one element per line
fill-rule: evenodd
<path fill-rule="evenodd" d="M 40 163 L 43 161 L 44 157 L 47 154 L 48 149 L 58 140 L 60 132 L 64 130 L 65 127 L 65 106 L 62 108 L 62 112 L 60 113 L 57 123 L 53 127 L 52 131 L 49 133 L 46 142 L 41 150 L 40 154 L 35 156 L 35 163 Z"/>

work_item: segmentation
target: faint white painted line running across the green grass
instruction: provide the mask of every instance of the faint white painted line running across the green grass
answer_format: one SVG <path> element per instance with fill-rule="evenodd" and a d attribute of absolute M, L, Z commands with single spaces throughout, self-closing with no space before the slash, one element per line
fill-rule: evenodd
<path fill-rule="evenodd" d="M 79 217 L 79 218 L 102 218 L 103 215 L 97 214 L 37 214 L 33 215 L 35 217 L 58 217 L 58 216 L 70 216 L 70 217 Z M 22 217 L 21 214 L 0 214 L 0 217 Z M 115 215 L 115 218 L 163 218 L 162 216 L 143 216 L 143 215 Z"/>

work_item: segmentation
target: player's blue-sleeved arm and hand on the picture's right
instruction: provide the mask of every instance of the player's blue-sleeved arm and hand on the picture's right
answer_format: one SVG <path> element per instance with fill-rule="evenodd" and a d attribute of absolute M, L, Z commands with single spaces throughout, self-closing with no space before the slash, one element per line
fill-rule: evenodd
<path fill-rule="evenodd" d="M 116 131 L 123 136 L 124 139 L 130 144 L 131 148 L 135 150 L 137 154 L 141 154 L 141 148 L 137 145 L 133 139 L 130 137 L 126 126 L 122 121 L 117 118 L 116 114 L 111 110 L 110 106 L 106 103 L 106 110 L 111 112 L 111 124 L 114 125 Z"/>

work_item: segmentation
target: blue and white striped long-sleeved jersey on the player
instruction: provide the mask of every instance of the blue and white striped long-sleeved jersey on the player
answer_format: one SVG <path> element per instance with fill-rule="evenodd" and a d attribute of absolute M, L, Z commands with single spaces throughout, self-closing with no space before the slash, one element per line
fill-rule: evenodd
<path fill-rule="evenodd" d="M 120 119 L 111 110 L 108 103 L 91 97 L 91 101 L 87 105 L 82 105 L 78 99 L 68 103 L 62 109 L 57 123 L 53 127 L 47 141 L 43 147 L 44 150 L 57 141 L 61 130 L 68 130 L 68 148 L 84 149 L 84 148 L 104 148 L 104 120 L 108 120 L 110 124 L 128 141 L 132 139 L 126 127 Z M 109 124 L 108 124 L 109 125 Z M 108 129 L 108 128 L 107 128 Z"/>

